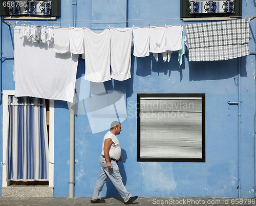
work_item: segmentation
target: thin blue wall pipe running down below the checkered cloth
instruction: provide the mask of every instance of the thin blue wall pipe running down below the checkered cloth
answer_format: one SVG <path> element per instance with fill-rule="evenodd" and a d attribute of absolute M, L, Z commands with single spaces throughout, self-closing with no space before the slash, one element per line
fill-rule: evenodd
<path fill-rule="evenodd" d="M 238 105 L 238 198 L 241 197 L 241 178 L 240 178 L 240 129 L 241 129 L 241 98 L 240 98 L 240 71 L 241 71 L 241 57 L 238 58 L 238 102 L 228 102 L 228 104 Z"/>

